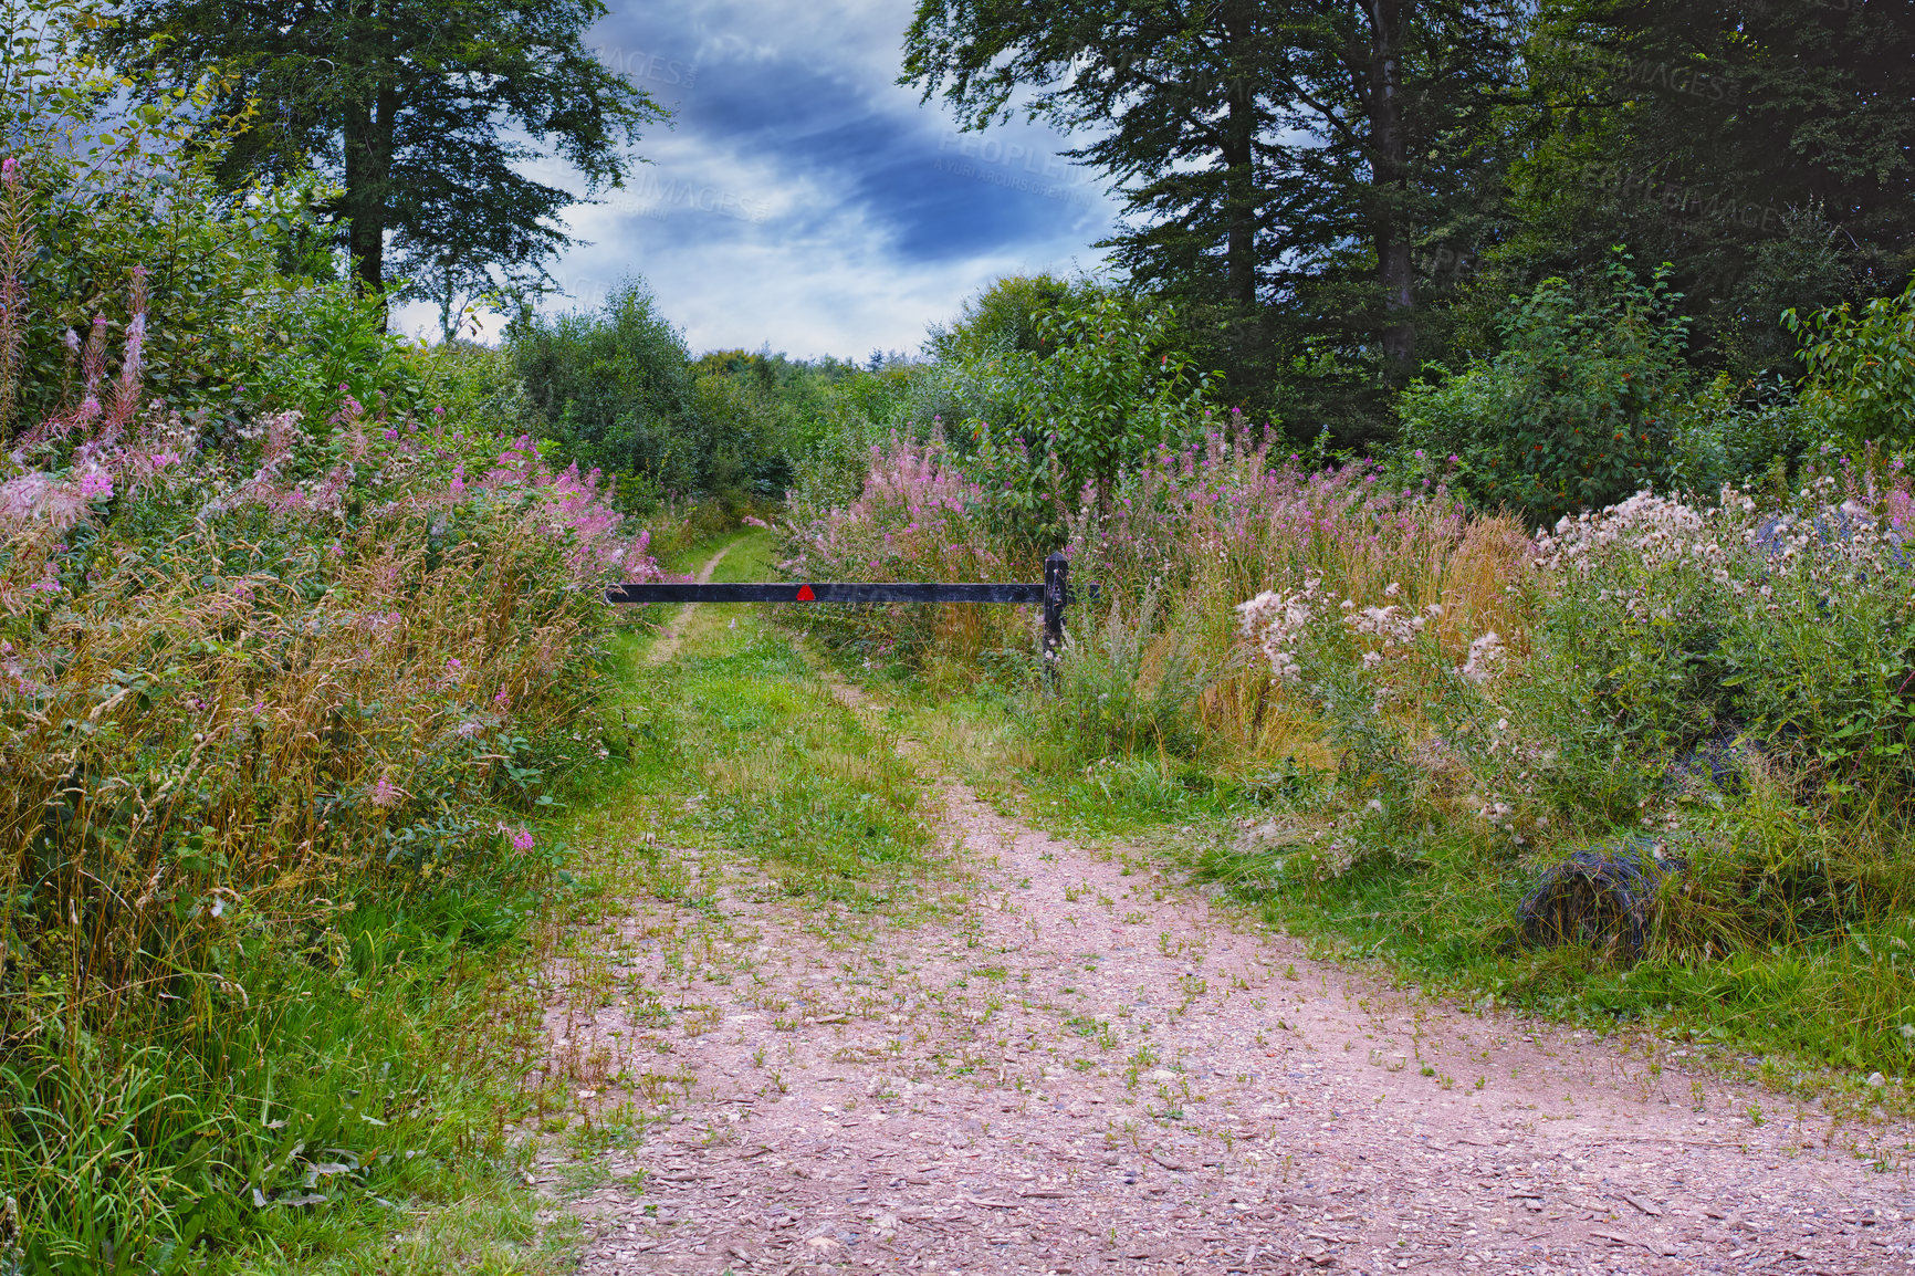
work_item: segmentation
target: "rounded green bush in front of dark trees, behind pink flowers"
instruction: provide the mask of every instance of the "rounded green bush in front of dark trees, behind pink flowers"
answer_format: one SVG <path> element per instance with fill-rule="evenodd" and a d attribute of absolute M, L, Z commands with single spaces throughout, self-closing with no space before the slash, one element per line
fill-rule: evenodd
<path fill-rule="evenodd" d="M 1404 391 L 1406 446 L 1455 456 L 1452 487 L 1532 525 L 1668 483 L 1687 379 L 1668 274 L 1641 284 L 1618 255 L 1593 297 L 1543 280 L 1511 299 L 1496 358 Z"/>

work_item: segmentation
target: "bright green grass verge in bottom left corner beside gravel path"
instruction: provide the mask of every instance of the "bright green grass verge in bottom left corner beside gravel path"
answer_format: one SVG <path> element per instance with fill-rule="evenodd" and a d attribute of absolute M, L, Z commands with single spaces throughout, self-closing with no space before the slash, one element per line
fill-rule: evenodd
<path fill-rule="evenodd" d="M 11 1270 L 555 1270 L 504 1138 L 550 881 L 521 856 L 356 891 L 303 939 L 237 943 L 228 1004 L 11 1052 L 0 1180 L 42 1203 Z"/>

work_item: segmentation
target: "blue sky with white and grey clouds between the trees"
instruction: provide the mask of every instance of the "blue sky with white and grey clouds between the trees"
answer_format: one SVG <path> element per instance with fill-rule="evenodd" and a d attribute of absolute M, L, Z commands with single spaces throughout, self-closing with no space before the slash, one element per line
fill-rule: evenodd
<path fill-rule="evenodd" d="M 912 0 L 609 4 L 592 44 L 674 119 L 626 190 L 571 211 L 590 243 L 559 259 L 571 295 L 550 307 L 642 276 L 693 351 L 862 358 L 915 351 L 1000 274 L 1099 264 L 1115 205 L 1057 134 L 959 134 L 894 82 Z"/>

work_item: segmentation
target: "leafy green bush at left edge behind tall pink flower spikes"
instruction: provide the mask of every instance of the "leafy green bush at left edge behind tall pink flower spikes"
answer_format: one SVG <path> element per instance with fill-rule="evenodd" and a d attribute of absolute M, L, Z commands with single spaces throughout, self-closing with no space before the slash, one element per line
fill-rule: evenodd
<path fill-rule="evenodd" d="M 117 376 L 134 278 L 146 284 L 142 383 L 149 399 L 201 422 L 213 441 L 266 412 L 299 408 L 314 429 L 345 385 L 360 402 L 416 402 L 400 343 L 377 299 L 343 287 L 320 251 L 314 209 L 331 197 L 312 174 L 239 194 L 211 171 L 228 146 L 205 102 L 113 113 L 119 82 L 77 52 L 100 6 L 0 0 L 0 119 L 19 186 L 6 211 L 13 257 L 0 274 L 23 297 L 0 368 L 0 439 L 73 393 L 94 331 Z M 167 155 L 159 163 L 155 155 Z"/>

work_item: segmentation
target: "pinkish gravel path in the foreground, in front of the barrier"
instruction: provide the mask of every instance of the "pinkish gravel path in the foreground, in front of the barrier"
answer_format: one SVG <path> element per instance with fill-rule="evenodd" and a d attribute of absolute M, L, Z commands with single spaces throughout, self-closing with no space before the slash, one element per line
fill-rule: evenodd
<path fill-rule="evenodd" d="M 1406 996 L 942 782 L 890 916 L 756 866 L 634 900 L 555 1006 L 657 1121 L 582 1272 L 1890 1272 L 1907 1130 Z M 1760 1105 L 1760 1111 L 1756 1109 Z"/>

